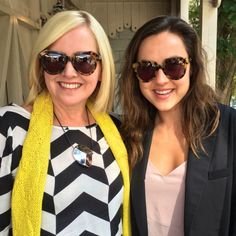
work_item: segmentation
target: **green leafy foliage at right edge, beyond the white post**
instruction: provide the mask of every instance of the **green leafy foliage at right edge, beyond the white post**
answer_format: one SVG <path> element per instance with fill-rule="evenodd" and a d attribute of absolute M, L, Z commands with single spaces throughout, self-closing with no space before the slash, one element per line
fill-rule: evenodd
<path fill-rule="evenodd" d="M 236 0 L 223 0 L 218 10 L 217 88 L 229 103 L 236 94 Z"/>

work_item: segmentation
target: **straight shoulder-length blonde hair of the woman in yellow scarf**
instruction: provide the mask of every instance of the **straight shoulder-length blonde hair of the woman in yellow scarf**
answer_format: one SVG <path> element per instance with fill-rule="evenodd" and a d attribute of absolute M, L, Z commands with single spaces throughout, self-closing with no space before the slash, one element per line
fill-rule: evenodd
<path fill-rule="evenodd" d="M 85 24 L 94 34 L 102 58 L 101 79 L 89 98 L 94 108 L 100 112 L 110 111 L 113 105 L 115 86 L 115 66 L 108 37 L 100 23 L 85 11 L 63 11 L 51 17 L 39 32 L 32 50 L 29 67 L 30 92 L 25 105 L 32 105 L 35 98 L 47 90 L 39 54 L 71 29 Z"/>

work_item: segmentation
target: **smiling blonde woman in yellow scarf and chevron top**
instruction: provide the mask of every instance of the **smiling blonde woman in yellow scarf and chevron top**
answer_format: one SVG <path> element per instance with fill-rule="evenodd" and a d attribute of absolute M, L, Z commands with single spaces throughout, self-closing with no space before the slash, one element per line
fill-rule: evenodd
<path fill-rule="evenodd" d="M 0 109 L 1 235 L 129 235 L 127 153 L 108 115 L 114 74 L 92 15 L 65 11 L 43 26 L 26 103 Z"/>

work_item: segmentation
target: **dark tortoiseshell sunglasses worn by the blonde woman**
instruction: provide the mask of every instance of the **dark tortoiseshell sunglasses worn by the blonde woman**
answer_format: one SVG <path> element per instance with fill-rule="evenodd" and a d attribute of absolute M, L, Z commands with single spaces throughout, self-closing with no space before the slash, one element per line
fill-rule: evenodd
<path fill-rule="evenodd" d="M 72 57 L 63 52 L 45 50 L 39 54 L 39 61 L 43 69 L 51 75 L 62 73 L 68 61 L 70 61 L 77 72 L 82 75 L 91 75 L 101 56 L 95 52 L 76 52 Z"/>

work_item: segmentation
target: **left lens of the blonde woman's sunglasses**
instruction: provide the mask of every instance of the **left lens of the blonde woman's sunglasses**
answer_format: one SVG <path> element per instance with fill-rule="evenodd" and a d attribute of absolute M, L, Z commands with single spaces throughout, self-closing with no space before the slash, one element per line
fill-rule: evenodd
<path fill-rule="evenodd" d="M 65 69 L 67 57 L 66 55 L 51 51 L 41 56 L 40 63 L 48 74 L 55 75 Z"/>

